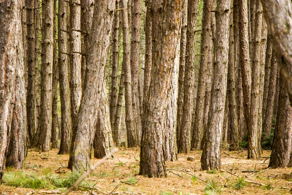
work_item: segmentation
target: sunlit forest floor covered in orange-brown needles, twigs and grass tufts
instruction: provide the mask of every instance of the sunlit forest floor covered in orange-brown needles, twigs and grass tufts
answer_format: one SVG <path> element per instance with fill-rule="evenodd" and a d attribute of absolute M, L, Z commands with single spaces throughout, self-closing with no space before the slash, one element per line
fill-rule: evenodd
<path fill-rule="evenodd" d="M 139 176 L 139 152 L 138 148 L 120 148 L 114 159 L 109 159 L 97 167 L 91 177 L 82 183 L 82 186 L 87 187 L 71 194 L 281 195 L 292 192 L 292 169 L 267 169 L 271 151 L 263 151 L 263 157 L 260 160 L 248 160 L 246 150 L 223 151 L 220 171 L 200 171 L 201 151 L 192 151 L 189 155 L 179 154 L 177 161 L 166 162 L 168 170 L 166 178 Z M 187 161 L 188 156 L 194 157 L 194 161 Z M 66 177 L 71 172 L 66 168 L 68 159 L 68 155 L 57 155 L 56 149 L 48 153 L 30 150 L 26 158 L 27 168 L 22 173 L 24 172 L 25 176 L 29 177 L 40 176 L 39 178 L 47 178 L 45 175 L 53 178 L 52 174 L 59 178 Z M 91 163 L 97 161 L 96 158 L 91 159 Z M 19 170 L 8 169 L 3 177 L 5 178 L 6 174 L 7 180 L 9 176 L 13 177 L 12 173 L 16 172 Z M 66 189 L 49 187 L 33 190 L 7 186 L 7 183 L 0 186 L 2 195 L 30 195 L 32 193 L 44 195 L 64 192 L 64 190 Z"/>

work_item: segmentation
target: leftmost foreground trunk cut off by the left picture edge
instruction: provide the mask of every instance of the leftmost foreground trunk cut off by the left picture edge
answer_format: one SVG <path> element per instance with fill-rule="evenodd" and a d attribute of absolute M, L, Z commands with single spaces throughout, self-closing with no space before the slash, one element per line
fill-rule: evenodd
<path fill-rule="evenodd" d="M 20 2 L 5 0 L 0 7 L 0 184 L 3 176 L 8 131 L 12 122 L 17 48 L 22 44 Z"/>

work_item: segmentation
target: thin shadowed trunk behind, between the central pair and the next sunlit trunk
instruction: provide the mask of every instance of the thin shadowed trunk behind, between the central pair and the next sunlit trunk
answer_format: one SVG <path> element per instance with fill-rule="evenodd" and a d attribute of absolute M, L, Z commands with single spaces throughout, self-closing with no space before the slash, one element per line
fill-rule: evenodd
<path fill-rule="evenodd" d="M 179 65 L 179 86 L 178 86 L 178 111 L 177 111 L 177 145 L 181 137 L 181 126 L 183 117 L 183 81 L 184 81 L 184 64 L 186 50 L 186 28 L 187 28 L 187 0 L 183 2 L 183 16 L 180 40 L 180 65 Z M 147 39 L 146 39 L 147 40 Z"/>

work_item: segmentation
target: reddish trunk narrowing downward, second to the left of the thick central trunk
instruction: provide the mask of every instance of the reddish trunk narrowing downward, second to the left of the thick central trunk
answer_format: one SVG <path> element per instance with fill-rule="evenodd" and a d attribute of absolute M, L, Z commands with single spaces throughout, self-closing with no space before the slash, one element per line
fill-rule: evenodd
<path fill-rule="evenodd" d="M 131 30 L 131 89 L 132 89 L 132 113 L 133 124 L 136 129 L 138 145 L 142 133 L 140 117 L 139 80 L 140 78 L 140 31 L 141 31 L 141 0 L 133 0 L 132 4 L 132 30 Z M 130 10 L 129 10 L 130 11 Z M 141 99 L 142 100 L 142 99 Z"/>

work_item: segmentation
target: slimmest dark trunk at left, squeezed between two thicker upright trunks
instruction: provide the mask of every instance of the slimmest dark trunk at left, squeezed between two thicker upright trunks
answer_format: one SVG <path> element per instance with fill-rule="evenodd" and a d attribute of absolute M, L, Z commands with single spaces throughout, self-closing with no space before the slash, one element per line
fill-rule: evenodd
<path fill-rule="evenodd" d="M 58 148 L 58 82 L 59 82 L 59 67 L 57 57 L 57 9 L 56 0 L 54 0 L 54 51 L 53 51 L 53 83 L 52 83 L 52 148 Z"/>

